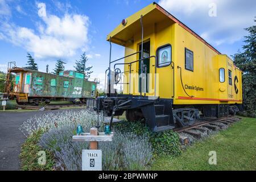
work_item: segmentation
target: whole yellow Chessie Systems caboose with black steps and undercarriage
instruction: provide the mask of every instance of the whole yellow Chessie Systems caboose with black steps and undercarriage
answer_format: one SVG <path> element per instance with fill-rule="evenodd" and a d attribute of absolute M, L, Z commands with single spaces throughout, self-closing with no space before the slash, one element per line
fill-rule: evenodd
<path fill-rule="evenodd" d="M 123 19 L 107 40 L 125 47 L 118 60 L 111 59 L 110 47 L 108 96 L 97 99 L 108 115 L 126 111 L 127 119 L 145 118 L 153 131 L 162 131 L 241 108 L 240 69 L 158 4 Z M 113 89 L 118 84 L 123 94 Z"/>

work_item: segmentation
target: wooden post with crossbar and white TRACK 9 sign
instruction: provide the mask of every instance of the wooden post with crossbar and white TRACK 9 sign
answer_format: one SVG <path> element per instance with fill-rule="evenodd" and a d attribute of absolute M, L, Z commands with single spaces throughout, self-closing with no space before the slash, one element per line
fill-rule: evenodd
<path fill-rule="evenodd" d="M 90 150 L 82 150 L 82 171 L 102 170 L 102 151 L 98 150 L 98 142 L 111 142 L 113 132 L 110 134 L 98 133 L 93 127 L 90 133 L 81 133 L 73 136 L 73 141 L 90 142 Z"/>

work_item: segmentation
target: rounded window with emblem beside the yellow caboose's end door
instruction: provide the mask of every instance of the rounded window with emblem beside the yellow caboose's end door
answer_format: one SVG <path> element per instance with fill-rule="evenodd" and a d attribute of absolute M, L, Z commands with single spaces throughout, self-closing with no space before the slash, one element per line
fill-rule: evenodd
<path fill-rule="evenodd" d="M 156 51 L 158 67 L 166 67 L 172 61 L 172 47 L 170 44 L 159 47 Z"/>

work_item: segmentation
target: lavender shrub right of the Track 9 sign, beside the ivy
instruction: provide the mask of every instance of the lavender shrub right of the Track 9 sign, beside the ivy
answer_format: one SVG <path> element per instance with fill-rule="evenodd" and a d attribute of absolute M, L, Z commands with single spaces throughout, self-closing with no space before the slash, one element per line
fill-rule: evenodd
<path fill-rule="evenodd" d="M 145 136 L 116 131 L 112 142 L 100 142 L 104 170 L 146 170 L 152 159 L 152 148 Z"/>

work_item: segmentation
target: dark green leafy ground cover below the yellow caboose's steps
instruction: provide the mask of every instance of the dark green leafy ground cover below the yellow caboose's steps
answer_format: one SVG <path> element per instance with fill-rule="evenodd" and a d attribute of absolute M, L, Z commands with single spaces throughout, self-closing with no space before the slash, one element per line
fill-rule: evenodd
<path fill-rule="evenodd" d="M 155 155 L 167 154 L 177 156 L 181 154 L 179 135 L 172 130 L 154 133 L 140 121 L 115 123 L 114 129 L 122 133 L 133 133 L 139 136 L 146 135 L 152 144 Z"/>

